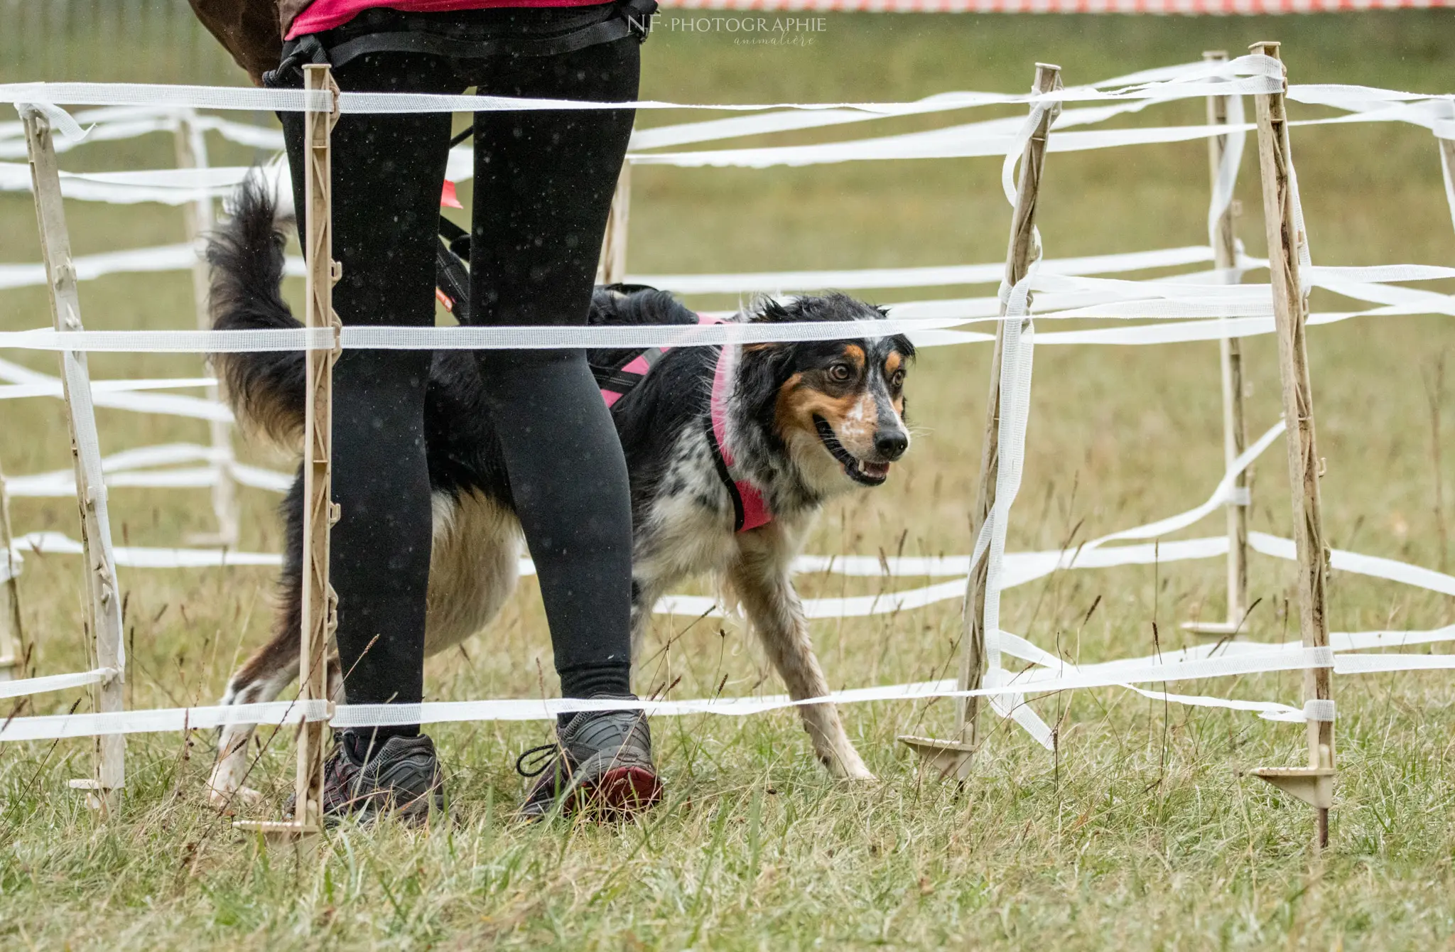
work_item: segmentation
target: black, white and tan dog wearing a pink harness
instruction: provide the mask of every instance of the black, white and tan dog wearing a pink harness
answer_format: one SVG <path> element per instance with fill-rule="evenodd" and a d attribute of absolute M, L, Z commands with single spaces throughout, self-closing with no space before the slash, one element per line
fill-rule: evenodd
<path fill-rule="evenodd" d="M 250 183 L 207 250 L 212 326 L 298 328 L 279 295 L 284 223 Z M 793 587 L 792 562 L 824 504 L 879 486 L 909 448 L 905 376 L 914 346 L 874 333 L 885 313 L 844 294 L 764 298 L 738 320 L 857 320 L 848 341 L 728 346 L 598 349 L 588 361 L 611 408 L 631 485 L 631 642 L 639 649 L 652 607 L 682 579 L 710 574 L 730 592 L 793 699 L 822 697 L 828 681 L 813 654 Z M 591 325 L 695 325 L 697 314 L 650 288 L 594 291 Z M 223 354 L 215 367 L 244 428 L 298 448 L 304 428 L 301 352 Z M 650 371 L 650 373 L 647 373 Z M 434 539 L 425 652 L 485 629 L 511 595 L 521 555 L 495 422 L 480 408 L 480 377 L 464 351 L 434 355 L 426 393 Z M 450 466 L 435 466 L 450 459 Z M 303 475 L 282 504 L 287 525 L 274 636 L 228 680 L 223 705 L 275 699 L 298 674 Z M 340 696 L 338 662 L 329 687 Z M 872 780 L 834 705 L 799 707 L 816 757 L 838 777 Z M 253 725 L 221 731 L 210 798 L 255 801 L 243 786 Z"/>

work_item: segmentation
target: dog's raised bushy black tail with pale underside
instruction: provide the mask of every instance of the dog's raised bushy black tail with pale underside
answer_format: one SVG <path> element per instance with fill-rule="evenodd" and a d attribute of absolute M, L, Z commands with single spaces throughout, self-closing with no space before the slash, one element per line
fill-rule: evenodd
<path fill-rule="evenodd" d="M 231 220 L 210 236 L 208 309 L 214 330 L 303 326 L 279 293 L 287 239 L 275 214 L 276 199 L 256 176 L 249 176 L 237 191 Z M 301 444 L 306 376 L 301 351 L 217 354 L 212 364 L 239 422 L 279 444 Z"/>

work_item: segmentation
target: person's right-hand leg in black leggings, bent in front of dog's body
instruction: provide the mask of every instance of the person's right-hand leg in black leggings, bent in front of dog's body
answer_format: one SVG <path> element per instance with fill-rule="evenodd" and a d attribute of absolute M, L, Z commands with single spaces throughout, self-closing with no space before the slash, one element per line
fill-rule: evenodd
<path fill-rule="evenodd" d="M 634 38 L 531 61 L 482 93 L 636 98 Z M 474 322 L 583 325 L 633 111 L 477 112 Z M 626 461 L 583 351 L 479 351 L 515 508 L 535 560 L 562 694 L 630 694 Z"/>

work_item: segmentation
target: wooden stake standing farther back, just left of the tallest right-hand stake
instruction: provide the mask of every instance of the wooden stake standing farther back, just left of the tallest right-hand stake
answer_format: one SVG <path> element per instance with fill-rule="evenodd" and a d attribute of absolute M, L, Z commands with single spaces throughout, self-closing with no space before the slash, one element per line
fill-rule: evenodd
<path fill-rule="evenodd" d="M 1221 63 L 1228 58 L 1224 51 L 1202 54 L 1203 60 Z M 1228 124 L 1228 96 L 1208 96 L 1208 125 Z M 1208 140 L 1208 164 L 1211 169 L 1212 186 L 1218 186 L 1218 172 L 1222 169 L 1222 156 L 1228 150 L 1228 137 L 1215 135 Z M 1229 201 L 1222 210 L 1212 234 L 1213 266 L 1225 275 L 1229 284 L 1238 279 L 1232 272 L 1237 266 L 1238 252 L 1232 233 L 1234 208 L 1237 202 Z M 1243 416 L 1243 341 L 1238 338 L 1224 338 L 1221 342 L 1222 357 L 1222 459 L 1225 466 L 1243 456 L 1248 447 L 1248 431 Z M 1248 470 L 1244 469 L 1232 482 L 1232 499 L 1228 501 L 1228 614 L 1224 623 L 1186 622 L 1183 627 L 1197 635 L 1212 635 L 1227 638 L 1237 635 L 1243 627 L 1243 613 L 1248 607 Z"/>

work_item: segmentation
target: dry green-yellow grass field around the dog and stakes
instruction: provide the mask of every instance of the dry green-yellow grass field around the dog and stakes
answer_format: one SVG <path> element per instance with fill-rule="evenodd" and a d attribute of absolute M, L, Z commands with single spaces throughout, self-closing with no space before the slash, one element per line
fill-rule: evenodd
<path fill-rule="evenodd" d="M 834 16 L 809 47 L 739 47 L 719 33 L 663 31 L 645 47 L 643 96 L 678 100 L 908 99 L 950 89 L 1021 90 L 1036 60 L 1067 83 L 1285 41 L 1293 82 L 1448 92 L 1455 19 L 1439 12 L 1288 19 Z M 74 39 L 74 74 L 17 79 L 170 79 L 156 55 L 108 55 Z M 163 64 L 159 67 L 159 63 Z M 221 67 L 218 67 L 221 68 Z M 160 74 L 159 74 L 160 73 Z M 237 82 L 242 82 L 240 77 Z M 1141 122 L 1190 121 L 1202 103 L 1163 106 Z M 1301 111 L 1298 116 L 1312 116 Z M 653 115 L 645 122 L 679 121 Z M 966 119 L 962 119 L 966 121 Z M 914 128 L 883 121 L 873 134 Z M 813 137 L 764 141 L 813 141 Z M 1238 231 L 1263 246 L 1248 150 Z M 1299 128 L 1293 135 L 1314 259 L 1320 263 L 1455 261 L 1435 143 L 1401 125 Z M 217 147 L 214 162 L 247 162 Z M 96 144 L 68 169 L 157 167 L 166 137 Z M 631 218 L 637 272 L 928 265 L 997 261 L 1008 208 L 994 160 L 860 163 L 794 170 L 639 167 Z M 1193 245 L 1203 239 L 1202 143 L 1052 154 L 1040 229 L 1048 255 Z M 73 202 L 77 253 L 182 240 L 176 210 Z M 0 194 L 0 261 L 38 261 L 29 197 Z M 947 288 L 934 295 L 979 294 Z M 901 291 L 867 297 L 904 300 Z M 186 275 L 112 277 L 83 285 L 90 328 L 191 325 Z M 722 300 L 704 298 L 704 304 Z M 1315 297 L 1317 309 L 1347 301 Z M 48 322 L 38 288 L 0 295 L 0 329 Z M 1448 319 L 1392 317 L 1311 332 L 1330 544 L 1423 566 L 1449 566 L 1449 460 L 1455 386 L 1438 386 L 1455 349 Z M 1250 429 L 1279 412 L 1270 338 L 1247 346 Z M 54 373 L 54 358 L 4 360 Z M 988 348 L 922 354 L 909 383 L 918 440 L 888 486 L 824 514 L 809 552 L 905 555 L 969 550 Z M 97 378 L 192 376 L 195 358 L 96 355 Z M 1455 370 L 1451 371 L 1455 374 Z M 4 472 L 68 466 L 60 402 L 0 409 Z M 1443 409 L 1443 432 L 1432 408 Z M 204 441 L 199 424 L 100 410 L 103 450 Z M 1445 470 L 1435 447 L 1445 441 Z M 274 466 L 285 460 L 255 457 Z M 1200 502 L 1222 467 L 1216 346 L 1042 348 L 1026 482 L 1010 547 L 1051 549 Z M 898 469 L 898 467 L 896 467 Z M 1257 469 L 1253 528 L 1286 536 L 1282 450 Z M 243 546 L 276 550 L 275 498 L 246 492 Z M 116 491 L 118 542 L 178 544 L 211 528 L 205 493 Z M 853 521 L 850 518 L 853 514 Z M 867 517 L 866 517 L 867 514 Z M 76 534 L 74 504 L 19 499 L 19 533 Z M 1211 518 L 1187 534 L 1215 534 Z M 20 592 L 39 674 L 87 665 L 79 562 L 32 556 Z M 1250 633 L 1296 638 L 1292 569 L 1253 558 Z M 122 571 L 129 706 L 211 703 L 233 664 L 269 626 L 266 571 Z M 925 579 L 893 579 L 909 588 Z M 866 594 L 877 581 L 805 576 L 808 595 Z M 1094 610 L 1093 610 L 1093 606 Z M 1005 597 L 1004 624 L 1068 658 L 1099 661 L 1179 646 L 1177 623 L 1221 616 L 1222 563 L 1064 572 Z M 1291 611 L 1293 617 L 1291 617 Z M 1339 575 L 1333 627 L 1429 629 L 1455 601 Z M 659 619 L 639 691 L 671 696 L 777 691 L 738 623 Z M 834 687 L 892 684 L 953 670 L 959 610 L 815 623 Z M 543 674 L 544 673 L 544 674 Z M 554 691 L 549 636 L 527 581 L 501 620 L 457 654 L 431 661 L 432 699 Z M 1298 675 L 1253 675 L 1176 690 L 1298 703 Z M 450 822 L 386 824 L 330 834 L 322 856 L 269 850 L 208 811 L 210 735 L 129 741 L 121 814 L 100 822 L 65 790 L 89 771 L 89 747 L 0 748 L 0 939 L 13 948 L 562 948 L 784 949 L 968 948 L 1360 948 L 1455 946 L 1455 710 L 1449 677 L 1336 680 L 1340 780 L 1333 849 L 1307 841 L 1310 811 L 1240 770 L 1298 763 L 1302 731 L 1250 715 L 1164 707 L 1104 689 L 1051 696 L 1056 757 L 997 729 L 960 789 L 915 773 L 895 735 L 943 734 L 949 703 L 844 710 L 880 780 L 831 782 L 790 713 L 655 723 L 669 796 L 624 827 L 518 828 L 511 764 L 544 725 L 469 723 L 432 731 L 450 771 Z M 57 713 L 81 693 L 35 697 Z M 255 780 L 269 811 L 291 786 L 291 744 L 268 739 Z M 266 811 L 265 811 L 266 812 Z M 265 815 L 260 812 L 259 815 Z"/>

